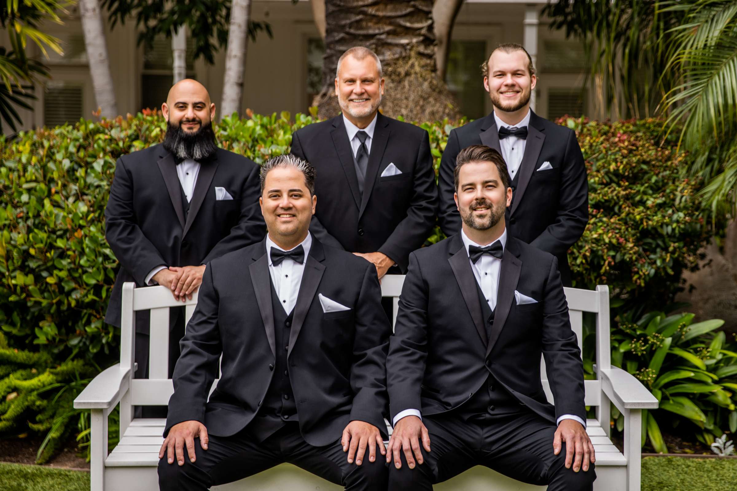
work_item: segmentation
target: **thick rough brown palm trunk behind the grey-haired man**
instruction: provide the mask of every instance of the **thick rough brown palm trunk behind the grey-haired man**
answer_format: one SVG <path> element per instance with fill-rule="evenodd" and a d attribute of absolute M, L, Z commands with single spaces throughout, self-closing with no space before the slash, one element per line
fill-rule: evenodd
<path fill-rule="evenodd" d="M 335 68 L 340 54 L 366 46 L 379 56 L 386 91 L 382 112 L 408 121 L 458 118 L 458 103 L 436 71 L 432 0 L 325 0 L 323 89 L 318 114 L 340 111 Z"/>

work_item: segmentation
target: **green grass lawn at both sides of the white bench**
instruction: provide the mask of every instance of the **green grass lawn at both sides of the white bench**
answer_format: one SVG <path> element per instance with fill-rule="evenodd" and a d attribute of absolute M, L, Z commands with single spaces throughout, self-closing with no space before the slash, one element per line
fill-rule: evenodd
<path fill-rule="evenodd" d="M 642 491 L 734 491 L 737 459 L 643 459 Z M 0 491 L 88 491 L 89 473 L 0 464 Z"/>

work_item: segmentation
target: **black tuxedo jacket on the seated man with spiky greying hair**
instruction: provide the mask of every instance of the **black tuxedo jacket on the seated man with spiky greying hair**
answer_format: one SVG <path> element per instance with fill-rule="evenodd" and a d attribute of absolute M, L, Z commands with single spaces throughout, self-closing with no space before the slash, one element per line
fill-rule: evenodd
<path fill-rule="evenodd" d="M 274 346 L 270 291 L 265 241 L 208 264 L 181 341 L 164 436 L 176 423 L 198 420 L 227 437 L 254 419 L 276 350 L 284 349 Z M 324 313 L 318 294 L 350 310 Z M 313 237 L 287 347 L 299 428 L 310 445 L 335 442 L 352 420 L 371 423 L 386 438 L 390 335 L 376 268 Z M 221 353 L 222 375 L 206 403 Z"/>

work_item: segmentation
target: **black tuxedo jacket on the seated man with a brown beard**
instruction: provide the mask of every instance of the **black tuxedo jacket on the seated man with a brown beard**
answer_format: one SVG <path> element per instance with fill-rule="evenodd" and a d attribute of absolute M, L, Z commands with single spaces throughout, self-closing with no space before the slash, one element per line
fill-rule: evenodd
<path fill-rule="evenodd" d="M 520 403 L 553 423 L 563 414 L 586 420 L 583 364 L 557 260 L 507 236 L 489 336 L 460 234 L 410 255 L 387 359 L 392 419 L 405 409 L 455 409 L 491 373 Z M 515 290 L 538 302 L 517 305 Z M 540 382 L 541 354 L 554 408 Z"/>

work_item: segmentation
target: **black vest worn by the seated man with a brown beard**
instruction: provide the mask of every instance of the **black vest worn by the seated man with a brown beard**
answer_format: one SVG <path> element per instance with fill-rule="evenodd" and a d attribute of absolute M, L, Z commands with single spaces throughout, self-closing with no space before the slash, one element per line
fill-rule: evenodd
<path fill-rule="evenodd" d="M 478 292 L 479 303 L 481 303 L 486 339 L 491 339 L 495 310 L 492 311 L 492 308 L 489 307 L 486 296 L 481 291 L 481 286 L 478 283 L 476 283 L 476 291 Z M 458 409 L 466 418 L 481 414 L 488 414 L 491 417 L 506 417 L 524 412 L 524 407 L 497 382 L 491 372 L 489 372 L 489 377 L 486 378 L 486 382 L 478 389 L 478 392 Z"/>

